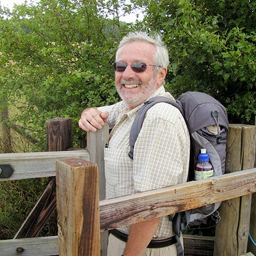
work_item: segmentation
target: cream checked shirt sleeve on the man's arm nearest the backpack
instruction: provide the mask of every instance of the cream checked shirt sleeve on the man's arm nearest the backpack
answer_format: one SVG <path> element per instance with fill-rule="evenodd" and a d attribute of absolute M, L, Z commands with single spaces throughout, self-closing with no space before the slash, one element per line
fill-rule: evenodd
<path fill-rule="evenodd" d="M 167 107 L 168 111 L 170 107 Z M 148 110 L 150 111 L 150 110 Z M 134 147 L 134 186 L 149 191 L 187 180 L 189 135 L 178 110 L 172 107 L 170 119 L 150 115 L 145 118 Z"/>

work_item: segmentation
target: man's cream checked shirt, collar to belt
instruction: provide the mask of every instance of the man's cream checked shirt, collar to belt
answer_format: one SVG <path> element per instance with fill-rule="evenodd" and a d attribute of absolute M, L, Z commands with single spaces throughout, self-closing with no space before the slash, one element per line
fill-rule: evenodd
<path fill-rule="evenodd" d="M 163 86 L 150 98 L 165 96 Z M 127 110 L 123 101 L 98 108 L 110 113 L 110 141 L 105 148 L 106 198 L 169 187 L 187 181 L 189 169 L 189 132 L 180 111 L 167 103 L 158 103 L 147 111 L 141 132 L 134 146 L 134 160 L 130 159 L 129 135 L 137 111 Z M 128 234 L 129 227 L 119 228 Z M 171 237 L 168 216 L 161 218 L 154 239 Z"/>

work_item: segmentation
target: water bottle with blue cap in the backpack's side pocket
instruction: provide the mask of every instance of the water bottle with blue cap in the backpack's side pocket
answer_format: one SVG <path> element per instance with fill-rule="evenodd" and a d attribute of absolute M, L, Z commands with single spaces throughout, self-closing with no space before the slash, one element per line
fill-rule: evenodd
<path fill-rule="evenodd" d="M 209 155 L 205 148 L 201 148 L 198 156 L 198 164 L 194 170 L 194 180 L 204 180 L 213 176 L 213 166 L 209 163 Z"/>

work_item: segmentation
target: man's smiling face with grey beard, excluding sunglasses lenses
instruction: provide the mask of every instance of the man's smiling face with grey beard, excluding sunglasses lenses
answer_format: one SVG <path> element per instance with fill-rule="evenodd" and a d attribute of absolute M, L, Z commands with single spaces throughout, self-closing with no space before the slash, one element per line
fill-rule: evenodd
<path fill-rule="evenodd" d="M 128 66 L 122 72 L 115 71 L 115 86 L 130 110 L 145 102 L 161 86 L 165 78 L 166 69 L 154 71 L 155 67 L 152 65 L 155 53 L 154 45 L 142 41 L 126 43 L 119 51 L 117 61 L 125 62 Z M 131 67 L 134 62 L 151 65 L 147 65 L 142 73 L 136 73 Z"/>

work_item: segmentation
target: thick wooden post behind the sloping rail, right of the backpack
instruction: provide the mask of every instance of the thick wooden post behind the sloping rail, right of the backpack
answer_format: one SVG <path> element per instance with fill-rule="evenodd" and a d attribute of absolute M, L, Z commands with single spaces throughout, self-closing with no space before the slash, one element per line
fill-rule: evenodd
<path fill-rule="evenodd" d="M 253 168 L 255 126 L 230 124 L 227 138 L 226 172 Z M 246 253 L 250 226 L 251 194 L 222 202 L 216 227 L 214 255 Z"/>

